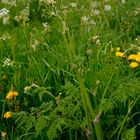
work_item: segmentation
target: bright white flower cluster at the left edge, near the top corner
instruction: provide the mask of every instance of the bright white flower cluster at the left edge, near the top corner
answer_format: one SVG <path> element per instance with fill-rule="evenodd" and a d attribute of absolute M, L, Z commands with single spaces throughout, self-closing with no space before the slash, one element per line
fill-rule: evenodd
<path fill-rule="evenodd" d="M 0 10 L 0 18 L 3 19 L 3 24 L 6 25 L 9 23 L 9 10 L 3 8 Z"/>

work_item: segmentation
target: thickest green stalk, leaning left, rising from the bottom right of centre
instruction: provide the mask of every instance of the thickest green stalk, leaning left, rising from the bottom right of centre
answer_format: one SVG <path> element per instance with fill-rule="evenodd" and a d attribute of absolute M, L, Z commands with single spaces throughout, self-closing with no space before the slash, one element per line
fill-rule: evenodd
<path fill-rule="evenodd" d="M 67 48 L 67 51 L 68 51 L 70 62 L 73 62 L 74 57 L 76 56 L 75 48 L 74 48 L 73 40 L 70 37 L 70 34 L 68 33 L 67 35 L 68 35 L 67 36 L 68 39 L 65 35 L 63 36 L 64 37 L 64 42 L 66 44 L 66 48 Z M 83 82 L 83 78 L 78 73 L 78 70 L 77 70 L 76 66 L 73 67 L 73 69 L 74 69 L 74 71 L 77 75 L 78 81 L 80 83 L 81 96 L 82 96 L 82 101 L 83 101 L 83 105 L 84 105 L 84 109 L 85 109 L 85 113 L 86 113 L 88 127 L 91 128 L 92 131 L 93 131 L 91 120 L 96 119 L 96 114 L 93 110 L 89 95 L 86 91 L 86 88 L 85 88 L 85 85 L 84 85 L 84 82 Z M 99 119 L 98 119 L 98 122 L 93 121 L 93 125 L 95 127 L 96 139 L 97 140 L 103 140 L 103 133 L 102 133 L 101 124 L 100 124 Z M 94 136 L 91 136 L 91 137 L 89 137 L 89 139 L 94 140 L 95 138 L 94 138 Z"/>

